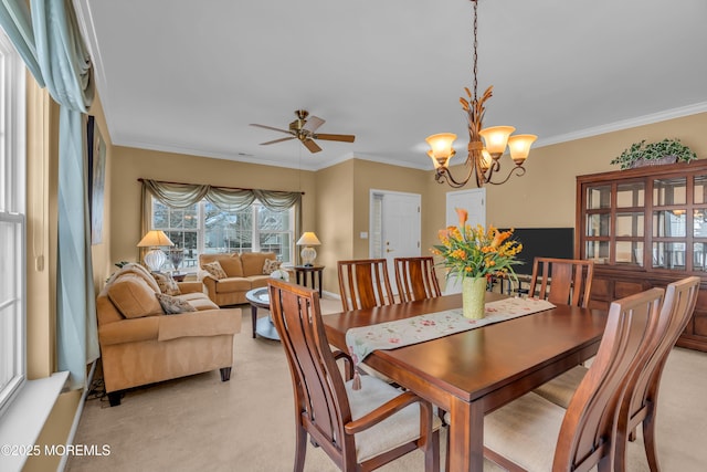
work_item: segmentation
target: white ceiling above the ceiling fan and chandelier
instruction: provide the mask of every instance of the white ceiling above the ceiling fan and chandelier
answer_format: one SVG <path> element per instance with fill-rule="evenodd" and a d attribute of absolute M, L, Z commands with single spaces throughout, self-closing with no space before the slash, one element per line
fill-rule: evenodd
<path fill-rule="evenodd" d="M 424 138 L 452 132 L 465 155 L 469 0 L 75 3 L 115 145 L 429 169 Z M 539 147 L 707 111 L 704 0 L 481 0 L 478 13 L 485 126 L 537 134 Z M 285 135 L 250 123 L 287 128 L 298 108 L 356 141 L 260 145 Z"/>

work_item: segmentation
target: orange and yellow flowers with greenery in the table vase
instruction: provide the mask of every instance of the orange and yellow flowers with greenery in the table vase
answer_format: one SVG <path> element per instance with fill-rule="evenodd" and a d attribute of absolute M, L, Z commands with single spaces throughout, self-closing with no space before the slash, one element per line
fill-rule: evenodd
<path fill-rule="evenodd" d="M 449 269 L 447 277 L 490 277 L 495 274 L 509 274 L 516 277 L 514 265 L 523 264 L 516 259 L 523 250 L 520 242 L 510 239 L 513 230 L 498 231 L 493 225 L 484 230 L 481 224 L 472 228 L 466 224 L 468 213 L 456 208 L 458 227 L 440 230 L 440 242 L 432 253 L 441 255 L 442 264 Z"/>

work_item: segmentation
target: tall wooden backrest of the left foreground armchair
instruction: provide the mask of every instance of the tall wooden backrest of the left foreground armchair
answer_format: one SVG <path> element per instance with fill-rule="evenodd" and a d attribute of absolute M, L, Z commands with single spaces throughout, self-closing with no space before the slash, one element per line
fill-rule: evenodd
<path fill-rule="evenodd" d="M 296 421 L 335 462 L 345 462 L 347 455 L 356 462 L 354 436 L 344 431 L 351 409 L 327 342 L 319 294 L 274 279 L 268 280 L 268 292 L 273 323 L 289 364 Z"/>

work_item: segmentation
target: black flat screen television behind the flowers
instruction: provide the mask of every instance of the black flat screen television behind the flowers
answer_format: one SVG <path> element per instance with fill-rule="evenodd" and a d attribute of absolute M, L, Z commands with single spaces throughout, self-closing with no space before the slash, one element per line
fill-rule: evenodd
<path fill-rule="evenodd" d="M 539 258 L 574 259 L 574 228 L 516 228 L 513 239 L 520 241 L 523 251 L 515 265 L 517 274 L 532 274 L 532 261 Z"/>

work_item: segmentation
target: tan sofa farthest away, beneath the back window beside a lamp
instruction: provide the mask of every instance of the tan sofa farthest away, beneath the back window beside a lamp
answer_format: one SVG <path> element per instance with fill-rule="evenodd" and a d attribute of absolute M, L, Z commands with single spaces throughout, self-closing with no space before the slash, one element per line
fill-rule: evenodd
<path fill-rule="evenodd" d="M 267 286 L 270 274 L 264 272 L 265 261 L 275 261 L 274 252 L 244 252 L 199 254 L 199 280 L 207 287 L 209 298 L 219 306 L 247 303 L 245 293 Z M 224 277 L 217 279 L 204 270 L 204 264 L 218 262 Z"/>

